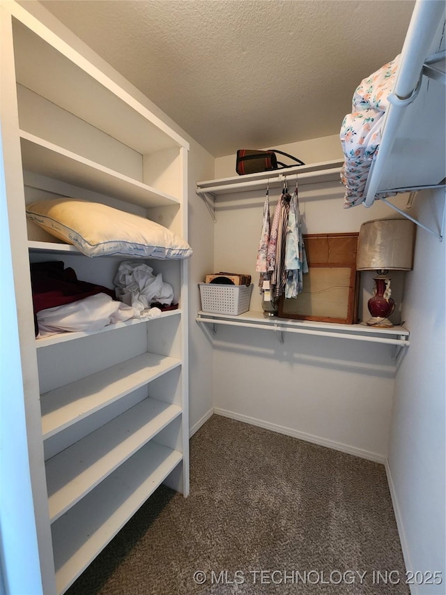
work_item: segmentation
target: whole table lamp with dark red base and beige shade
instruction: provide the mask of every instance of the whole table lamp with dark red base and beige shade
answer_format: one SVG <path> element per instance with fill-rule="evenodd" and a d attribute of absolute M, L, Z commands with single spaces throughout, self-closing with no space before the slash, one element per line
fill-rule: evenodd
<path fill-rule="evenodd" d="M 412 270 L 414 243 L 415 224 L 408 219 L 376 219 L 362 223 L 357 240 L 356 270 L 378 273 L 374 277 L 373 296 L 367 303 L 371 314 L 367 320 L 369 326 L 393 326 L 388 317 L 395 309 L 395 302 L 387 273 Z"/>

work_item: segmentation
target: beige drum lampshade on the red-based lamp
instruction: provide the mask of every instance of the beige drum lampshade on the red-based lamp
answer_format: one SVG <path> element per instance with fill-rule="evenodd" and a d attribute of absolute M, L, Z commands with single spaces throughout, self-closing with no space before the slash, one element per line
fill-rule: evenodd
<path fill-rule="evenodd" d="M 357 240 L 357 271 L 411 271 L 415 223 L 408 219 L 375 219 L 362 223 Z"/>

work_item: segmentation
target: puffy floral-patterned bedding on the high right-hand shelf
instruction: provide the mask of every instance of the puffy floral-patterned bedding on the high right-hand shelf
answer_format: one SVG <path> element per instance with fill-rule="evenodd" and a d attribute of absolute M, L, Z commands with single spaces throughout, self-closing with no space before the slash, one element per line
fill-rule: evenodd
<path fill-rule="evenodd" d="M 344 165 L 341 182 L 346 187 L 344 208 L 364 202 L 364 190 L 371 162 L 376 158 L 381 140 L 383 116 L 389 107 L 399 56 L 362 80 L 353 95 L 352 113 L 341 126 Z"/>

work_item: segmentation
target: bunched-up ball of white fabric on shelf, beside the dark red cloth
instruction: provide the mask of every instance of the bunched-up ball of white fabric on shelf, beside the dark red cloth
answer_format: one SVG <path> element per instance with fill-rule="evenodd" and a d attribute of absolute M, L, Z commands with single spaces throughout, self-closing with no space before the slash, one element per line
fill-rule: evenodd
<path fill-rule="evenodd" d="M 170 306 L 174 299 L 173 287 L 163 283 L 161 273 L 155 276 L 152 267 L 144 263 L 121 262 L 114 285 L 117 299 L 132 306 L 135 317 L 148 315 L 144 310 L 150 308 L 152 302 Z"/>

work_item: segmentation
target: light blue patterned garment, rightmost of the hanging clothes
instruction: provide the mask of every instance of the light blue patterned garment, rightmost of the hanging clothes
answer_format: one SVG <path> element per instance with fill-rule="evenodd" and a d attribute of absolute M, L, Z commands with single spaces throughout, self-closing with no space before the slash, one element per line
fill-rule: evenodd
<path fill-rule="evenodd" d="M 295 298 L 303 291 L 303 273 L 308 273 L 297 186 L 291 197 L 288 227 L 286 229 L 285 271 L 285 297 L 286 299 Z"/>

